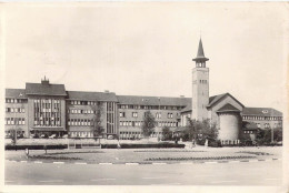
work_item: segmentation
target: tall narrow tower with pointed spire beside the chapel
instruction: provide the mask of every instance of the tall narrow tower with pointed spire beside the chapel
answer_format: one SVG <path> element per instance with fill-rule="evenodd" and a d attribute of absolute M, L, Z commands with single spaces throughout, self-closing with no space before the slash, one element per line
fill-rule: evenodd
<path fill-rule="evenodd" d="M 200 39 L 196 61 L 196 68 L 192 69 L 192 114 L 193 120 L 208 119 L 207 105 L 209 104 L 209 69 L 206 68 L 206 61 L 202 42 Z"/>

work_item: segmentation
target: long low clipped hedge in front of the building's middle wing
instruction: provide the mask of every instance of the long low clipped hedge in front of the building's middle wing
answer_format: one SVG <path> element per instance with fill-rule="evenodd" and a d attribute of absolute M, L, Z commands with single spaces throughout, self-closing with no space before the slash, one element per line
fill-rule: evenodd
<path fill-rule="evenodd" d="M 121 149 L 170 149 L 170 148 L 185 148 L 185 144 L 175 143 L 153 143 L 153 144 L 120 144 Z M 102 144 L 101 149 L 117 149 L 117 144 Z"/>

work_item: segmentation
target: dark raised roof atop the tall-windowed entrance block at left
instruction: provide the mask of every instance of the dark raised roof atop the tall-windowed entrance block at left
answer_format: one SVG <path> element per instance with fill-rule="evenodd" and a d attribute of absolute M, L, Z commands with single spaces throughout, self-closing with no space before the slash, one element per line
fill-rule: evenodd
<path fill-rule="evenodd" d="M 26 83 L 27 95 L 61 95 L 66 96 L 64 84 Z"/>

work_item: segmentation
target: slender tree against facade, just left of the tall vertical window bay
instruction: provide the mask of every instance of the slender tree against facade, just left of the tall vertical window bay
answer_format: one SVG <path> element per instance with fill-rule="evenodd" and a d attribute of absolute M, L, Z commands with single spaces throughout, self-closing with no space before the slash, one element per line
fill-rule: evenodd
<path fill-rule="evenodd" d="M 91 130 L 93 132 L 93 136 L 100 136 L 103 134 L 103 126 L 101 125 L 102 119 L 102 102 L 96 102 L 94 104 L 91 104 L 91 109 L 93 111 L 93 118 L 91 120 Z"/>

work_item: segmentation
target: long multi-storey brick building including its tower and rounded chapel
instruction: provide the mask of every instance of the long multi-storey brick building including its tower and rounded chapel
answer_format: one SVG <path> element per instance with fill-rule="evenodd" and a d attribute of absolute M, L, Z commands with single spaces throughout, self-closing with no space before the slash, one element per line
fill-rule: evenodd
<path fill-rule="evenodd" d="M 69 134 L 70 138 L 92 138 L 100 124 L 104 136 L 142 138 L 141 124 L 146 111 L 156 118 L 152 136 L 160 136 L 163 126 L 176 130 L 188 119 L 210 119 L 216 122 L 221 141 L 236 141 L 243 123 L 261 129 L 282 126 L 282 113 L 271 108 L 247 108 L 230 93 L 209 96 L 209 68 L 200 40 L 196 67 L 192 69 L 192 98 L 116 95 L 113 92 L 67 91 L 64 84 L 26 83 L 26 89 L 6 89 L 6 134 Z M 97 123 L 96 123 L 96 120 Z"/>

